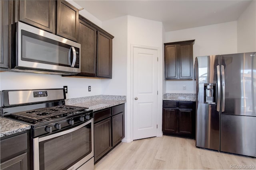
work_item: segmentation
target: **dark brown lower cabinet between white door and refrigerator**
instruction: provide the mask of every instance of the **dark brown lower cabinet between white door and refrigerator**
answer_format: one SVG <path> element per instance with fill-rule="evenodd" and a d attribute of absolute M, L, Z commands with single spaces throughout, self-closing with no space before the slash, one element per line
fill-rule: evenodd
<path fill-rule="evenodd" d="M 163 102 L 162 131 L 164 135 L 194 139 L 195 128 L 195 102 Z"/>

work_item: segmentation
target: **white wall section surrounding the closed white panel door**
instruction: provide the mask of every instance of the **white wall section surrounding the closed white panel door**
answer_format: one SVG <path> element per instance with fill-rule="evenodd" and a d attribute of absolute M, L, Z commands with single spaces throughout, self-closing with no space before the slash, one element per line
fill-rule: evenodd
<path fill-rule="evenodd" d="M 133 127 L 133 97 L 132 96 L 132 54 L 131 45 L 141 45 L 158 48 L 158 125 L 162 125 L 162 22 L 146 20 L 128 16 L 128 44 L 127 44 L 127 139 L 132 141 Z M 159 128 L 160 127 L 160 128 Z M 158 136 L 162 135 L 162 126 L 158 126 Z M 130 131 L 129 131 L 130 128 Z"/>

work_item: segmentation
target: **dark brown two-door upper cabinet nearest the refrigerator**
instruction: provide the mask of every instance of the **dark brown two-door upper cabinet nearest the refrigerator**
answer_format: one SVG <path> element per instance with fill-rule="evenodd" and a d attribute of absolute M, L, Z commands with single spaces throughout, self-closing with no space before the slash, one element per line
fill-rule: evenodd
<path fill-rule="evenodd" d="M 195 40 L 164 43 L 166 80 L 193 78 L 193 45 Z"/>

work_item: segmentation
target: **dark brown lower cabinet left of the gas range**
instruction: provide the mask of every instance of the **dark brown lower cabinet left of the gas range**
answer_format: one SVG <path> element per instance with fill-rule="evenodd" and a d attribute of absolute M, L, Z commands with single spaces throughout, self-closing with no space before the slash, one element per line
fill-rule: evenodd
<path fill-rule="evenodd" d="M 29 170 L 29 138 L 25 131 L 1 138 L 1 170 Z"/>

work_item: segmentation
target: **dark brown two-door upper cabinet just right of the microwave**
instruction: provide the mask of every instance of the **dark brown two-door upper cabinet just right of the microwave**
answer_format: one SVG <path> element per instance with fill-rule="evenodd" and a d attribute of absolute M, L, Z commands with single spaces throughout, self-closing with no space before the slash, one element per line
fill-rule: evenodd
<path fill-rule="evenodd" d="M 113 35 L 79 16 L 81 72 L 75 76 L 112 78 Z"/>

